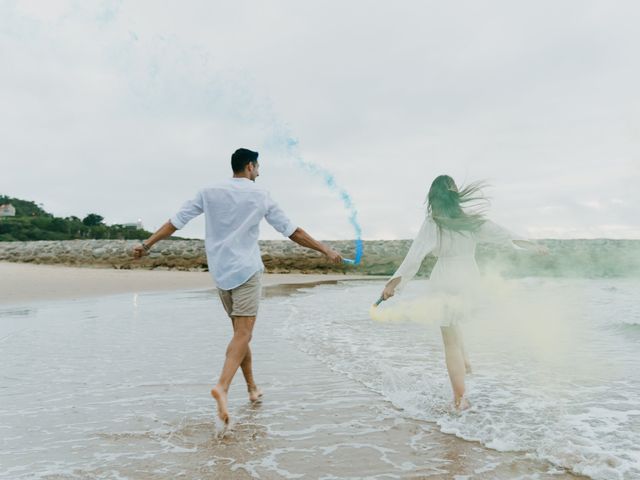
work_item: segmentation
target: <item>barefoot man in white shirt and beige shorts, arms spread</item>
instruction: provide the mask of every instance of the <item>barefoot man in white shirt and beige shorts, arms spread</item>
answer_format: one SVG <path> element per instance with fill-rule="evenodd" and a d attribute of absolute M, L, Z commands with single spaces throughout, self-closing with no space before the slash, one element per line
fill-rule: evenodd
<path fill-rule="evenodd" d="M 233 338 L 227 347 L 220 379 L 211 390 L 218 404 L 218 416 L 226 424 L 229 423 L 227 394 L 238 367 L 247 382 L 249 400 L 255 402 L 262 396 L 253 379 L 249 348 L 264 270 L 258 246 L 260 221 L 265 218 L 282 235 L 321 252 L 330 262 L 342 261 L 340 254 L 292 224 L 269 193 L 255 185 L 260 175 L 257 152 L 245 148 L 236 150 L 231 156 L 231 167 L 233 178 L 200 190 L 193 200 L 186 202 L 174 217 L 133 251 L 134 257 L 140 258 L 153 244 L 204 213 L 209 271 L 233 325 Z"/>

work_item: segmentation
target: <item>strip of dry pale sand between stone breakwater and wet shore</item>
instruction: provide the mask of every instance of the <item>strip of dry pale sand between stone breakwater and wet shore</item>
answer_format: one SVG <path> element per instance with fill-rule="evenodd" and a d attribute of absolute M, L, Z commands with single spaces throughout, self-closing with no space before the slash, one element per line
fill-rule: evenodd
<path fill-rule="evenodd" d="M 349 274 L 265 273 L 263 295 L 286 295 L 298 288 L 383 277 Z M 123 293 L 213 290 L 209 272 L 118 270 L 0 262 L 0 305 L 42 300 L 74 300 Z"/>

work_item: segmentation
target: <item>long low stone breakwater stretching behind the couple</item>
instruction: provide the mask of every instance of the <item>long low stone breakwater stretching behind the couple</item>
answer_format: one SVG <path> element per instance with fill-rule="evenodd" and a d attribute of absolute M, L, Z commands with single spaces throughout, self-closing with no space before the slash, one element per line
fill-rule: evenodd
<path fill-rule="evenodd" d="M 206 270 L 202 240 L 164 240 L 146 257 L 134 260 L 131 251 L 138 242 L 131 240 L 70 240 L 37 242 L 0 242 L 0 261 L 61 264 L 110 268 L 163 268 Z M 354 256 L 352 241 L 328 241 L 347 258 Z M 544 257 L 528 251 L 479 245 L 478 264 L 511 277 L 640 276 L 639 240 L 544 240 L 550 254 Z M 331 265 L 317 252 L 301 248 L 288 240 L 260 242 L 262 260 L 270 273 L 356 273 L 390 275 L 406 255 L 411 240 L 364 242 L 360 265 Z M 418 272 L 426 276 L 435 264 L 427 256 Z"/>

